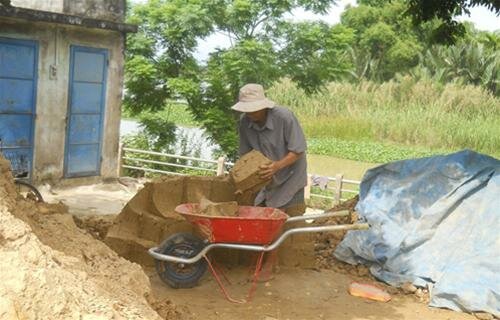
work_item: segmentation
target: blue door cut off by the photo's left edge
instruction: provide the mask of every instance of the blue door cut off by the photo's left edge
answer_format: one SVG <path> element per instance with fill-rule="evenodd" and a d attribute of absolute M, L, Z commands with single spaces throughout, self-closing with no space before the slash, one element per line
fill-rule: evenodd
<path fill-rule="evenodd" d="M 33 163 L 38 46 L 0 38 L 0 148 L 13 174 L 30 178 Z"/>

